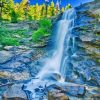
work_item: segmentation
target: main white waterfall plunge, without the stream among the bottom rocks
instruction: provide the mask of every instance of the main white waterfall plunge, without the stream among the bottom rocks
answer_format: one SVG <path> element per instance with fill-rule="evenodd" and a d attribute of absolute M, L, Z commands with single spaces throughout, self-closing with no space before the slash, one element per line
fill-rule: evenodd
<path fill-rule="evenodd" d="M 75 18 L 76 18 L 75 10 L 70 9 L 64 12 L 62 19 L 58 22 L 56 49 L 54 50 L 53 56 L 51 58 L 48 58 L 43 69 L 37 75 L 37 77 L 39 77 L 40 79 L 43 78 L 48 73 L 60 72 L 65 36 L 68 35 L 68 38 L 66 38 L 68 39 L 67 42 L 67 47 L 68 47 L 71 38 L 70 32 L 72 31 L 72 28 L 74 26 Z M 73 48 L 74 48 L 74 42 L 73 42 Z"/>

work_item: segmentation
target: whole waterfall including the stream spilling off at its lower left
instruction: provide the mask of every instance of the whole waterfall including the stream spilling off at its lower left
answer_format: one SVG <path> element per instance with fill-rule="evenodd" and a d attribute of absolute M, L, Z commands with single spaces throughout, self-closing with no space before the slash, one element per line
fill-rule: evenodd
<path fill-rule="evenodd" d="M 60 82 L 63 82 L 66 75 L 66 67 L 65 62 L 70 60 L 70 55 L 68 53 L 70 47 L 72 54 L 75 53 L 75 37 L 71 36 L 71 31 L 74 27 L 74 20 L 76 18 L 76 12 L 74 9 L 70 9 L 64 12 L 62 19 L 57 23 L 56 28 L 56 47 L 54 49 L 53 55 L 48 58 L 43 66 L 42 70 L 36 75 L 38 80 L 32 80 L 30 83 L 26 85 L 26 90 L 32 92 L 32 97 L 35 97 L 35 87 L 39 87 L 39 84 L 43 84 L 42 80 L 46 80 L 48 75 L 52 75 L 53 73 L 57 73 L 57 75 L 61 76 Z M 64 42 L 67 40 L 66 44 L 66 52 L 67 55 L 63 59 L 64 55 Z M 70 46 L 71 45 L 71 46 Z M 50 81 L 50 80 L 49 80 Z M 45 85 L 45 84 L 44 84 Z M 43 85 L 42 85 L 43 86 Z M 34 87 L 34 88 L 33 88 Z M 45 87 L 45 86 L 44 86 Z M 38 100 L 38 99 L 35 99 Z"/>

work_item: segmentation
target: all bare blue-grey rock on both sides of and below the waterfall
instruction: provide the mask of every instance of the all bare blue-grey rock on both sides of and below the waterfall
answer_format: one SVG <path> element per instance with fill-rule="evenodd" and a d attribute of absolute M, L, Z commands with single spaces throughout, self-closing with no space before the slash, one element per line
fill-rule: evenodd
<path fill-rule="evenodd" d="M 66 82 L 57 82 L 60 76 L 53 74 L 50 78 L 52 77 L 54 82 L 35 83 L 40 86 L 36 88 L 36 92 L 44 95 L 41 96 L 41 100 L 43 98 L 48 100 L 100 99 L 100 2 L 87 3 L 75 9 L 77 19 L 72 36 L 76 41 L 76 53 L 66 67 Z M 25 46 L 6 46 L 0 51 L 1 100 L 29 99 L 31 92 L 23 91 L 24 84 L 34 79 L 41 70 L 46 57 L 51 53 L 47 51 L 47 48 L 34 49 Z M 34 83 L 32 87 L 35 88 Z"/>

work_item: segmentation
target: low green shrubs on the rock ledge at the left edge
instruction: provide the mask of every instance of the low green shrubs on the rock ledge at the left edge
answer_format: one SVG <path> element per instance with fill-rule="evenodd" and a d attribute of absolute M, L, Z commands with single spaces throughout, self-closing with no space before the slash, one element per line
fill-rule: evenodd
<path fill-rule="evenodd" d="M 6 28 L 0 28 L 0 44 L 18 46 L 19 40 L 25 36 L 26 30 L 8 30 Z M 19 37 L 16 37 L 18 35 Z"/>

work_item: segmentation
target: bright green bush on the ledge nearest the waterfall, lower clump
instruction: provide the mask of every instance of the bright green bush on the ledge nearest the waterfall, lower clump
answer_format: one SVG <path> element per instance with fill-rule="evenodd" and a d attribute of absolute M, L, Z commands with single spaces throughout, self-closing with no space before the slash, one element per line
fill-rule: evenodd
<path fill-rule="evenodd" d="M 34 42 L 41 42 L 41 40 L 45 37 L 45 36 L 49 36 L 50 34 L 47 33 L 45 28 L 39 28 L 37 31 L 35 31 L 32 34 L 32 39 Z"/>

